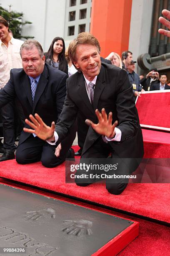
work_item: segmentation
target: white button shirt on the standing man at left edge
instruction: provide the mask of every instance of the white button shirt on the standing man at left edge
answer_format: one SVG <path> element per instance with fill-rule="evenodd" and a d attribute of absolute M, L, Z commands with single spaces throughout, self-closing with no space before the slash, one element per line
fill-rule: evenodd
<path fill-rule="evenodd" d="M 8 47 L 0 40 L 0 88 L 10 79 L 10 70 L 22 68 L 20 47 L 24 41 L 11 37 Z"/>

